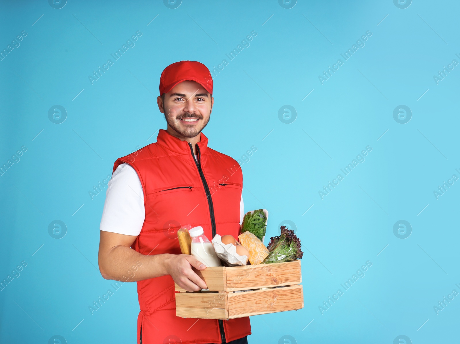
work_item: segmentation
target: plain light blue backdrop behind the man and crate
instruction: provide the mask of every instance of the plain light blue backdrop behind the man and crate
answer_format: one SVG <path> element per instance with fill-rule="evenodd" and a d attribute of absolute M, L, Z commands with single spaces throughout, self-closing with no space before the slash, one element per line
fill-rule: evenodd
<path fill-rule="evenodd" d="M 236 159 L 257 147 L 242 164 L 245 210 L 270 211 L 268 236 L 287 219 L 297 227 L 305 308 L 251 317 L 249 343 L 289 343 L 285 335 L 291 343 L 458 341 L 460 296 L 433 309 L 460 292 L 460 181 L 433 195 L 460 177 L 460 66 L 433 80 L 460 61 L 458 1 L 414 0 L 406 9 L 392 0 L 299 0 L 291 9 L 276 0 L 0 6 L 2 50 L 28 33 L 0 61 L 0 164 L 27 147 L 0 177 L 0 279 L 27 262 L 0 292 L 1 343 L 47 343 L 56 334 L 69 344 L 135 342 L 135 283 L 88 310 L 113 283 L 98 271 L 106 189 L 93 200 L 88 191 L 116 158 L 166 127 L 156 96 L 168 64 L 198 60 L 213 69 L 252 30 L 250 46 L 214 78 L 203 132 Z M 135 46 L 92 85 L 92 71 L 137 30 Z M 323 70 L 367 30 L 365 46 L 321 84 Z M 67 111 L 61 124 L 48 119 L 56 104 Z M 296 110 L 290 124 L 278 118 L 286 104 Z M 401 104 L 412 111 L 406 124 L 393 118 Z M 368 145 L 365 161 L 321 199 L 323 185 Z M 56 219 L 67 226 L 59 240 L 48 234 Z M 402 219 L 412 226 L 407 239 L 393 233 Z M 321 314 L 368 260 L 365 276 Z"/>

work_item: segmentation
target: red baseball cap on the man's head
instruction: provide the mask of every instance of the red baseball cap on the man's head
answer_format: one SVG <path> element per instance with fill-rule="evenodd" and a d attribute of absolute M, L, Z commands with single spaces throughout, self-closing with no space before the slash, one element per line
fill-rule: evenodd
<path fill-rule="evenodd" d="M 160 95 L 171 91 L 179 82 L 193 80 L 213 94 L 213 78 L 209 69 L 198 61 L 179 61 L 167 66 L 160 77 Z"/>

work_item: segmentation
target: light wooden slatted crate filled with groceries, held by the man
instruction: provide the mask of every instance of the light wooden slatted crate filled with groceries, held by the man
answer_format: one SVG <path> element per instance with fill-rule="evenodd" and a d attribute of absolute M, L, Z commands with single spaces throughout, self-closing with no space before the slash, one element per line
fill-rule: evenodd
<path fill-rule="evenodd" d="M 300 260 L 194 270 L 210 292 L 187 292 L 175 284 L 177 316 L 233 319 L 304 307 Z M 267 287 L 279 288 L 239 292 Z"/>

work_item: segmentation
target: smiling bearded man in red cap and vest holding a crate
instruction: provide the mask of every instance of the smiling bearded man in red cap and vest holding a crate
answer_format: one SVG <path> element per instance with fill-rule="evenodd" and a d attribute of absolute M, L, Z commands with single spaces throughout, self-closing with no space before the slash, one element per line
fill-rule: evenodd
<path fill-rule="evenodd" d="M 105 279 L 137 281 L 140 344 L 247 344 L 249 318 L 227 321 L 176 316 L 174 281 L 187 291 L 206 289 L 192 270 L 206 266 L 180 254 L 177 229 L 202 226 L 240 234 L 242 171 L 232 158 L 207 147 L 201 133 L 213 108 L 213 80 L 196 61 L 161 73 L 158 108 L 167 130 L 157 142 L 115 161 L 100 225 L 99 269 Z"/>

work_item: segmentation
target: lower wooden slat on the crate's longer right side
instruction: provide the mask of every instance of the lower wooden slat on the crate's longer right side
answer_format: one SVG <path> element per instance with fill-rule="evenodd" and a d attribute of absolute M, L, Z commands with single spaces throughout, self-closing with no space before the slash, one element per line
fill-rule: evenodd
<path fill-rule="evenodd" d="M 299 310 L 304 307 L 301 285 L 294 287 L 228 293 L 229 319 L 249 315 Z"/>

